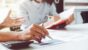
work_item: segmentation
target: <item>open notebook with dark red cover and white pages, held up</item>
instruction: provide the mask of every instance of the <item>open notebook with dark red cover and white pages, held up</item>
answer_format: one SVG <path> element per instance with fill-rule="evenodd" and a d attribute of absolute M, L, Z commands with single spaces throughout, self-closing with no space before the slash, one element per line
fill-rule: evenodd
<path fill-rule="evenodd" d="M 68 19 L 69 17 L 71 17 L 74 13 L 75 7 L 68 9 L 60 14 L 58 14 L 60 16 L 60 20 L 56 21 L 56 22 L 51 22 L 51 24 L 49 24 L 46 28 L 48 29 L 63 29 L 66 26 L 66 19 Z"/>

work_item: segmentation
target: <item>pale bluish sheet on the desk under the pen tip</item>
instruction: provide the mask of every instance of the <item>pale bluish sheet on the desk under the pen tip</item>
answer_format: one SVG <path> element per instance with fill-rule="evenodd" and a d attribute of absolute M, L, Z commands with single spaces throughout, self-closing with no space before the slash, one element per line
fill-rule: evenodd
<path fill-rule="evenodd" d="M 57 40 L 57 39 L 53 39 L 53 40 L 45 40 L 45 41 L 42 41 L 42 43 L 33 43 L 33 44 L 30 44 L 30 47 L 33 47 L 33 48 L 47 48 L 47 47 L 52 47 L 52 46 L 55 46 L 55 45 L 60 45 L 64 43 L 63 41 L 60 41 L 60 40 Z"/>

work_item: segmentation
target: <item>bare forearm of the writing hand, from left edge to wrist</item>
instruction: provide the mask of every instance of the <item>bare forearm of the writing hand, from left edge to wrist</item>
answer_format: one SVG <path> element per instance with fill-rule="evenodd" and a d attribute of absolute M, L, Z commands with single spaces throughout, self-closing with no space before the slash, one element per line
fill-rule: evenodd
<path fill-rule="evenodd" d="M 0 42 L 4 41 L 22 41 L 20 37 L 22 32 L 0 32 Z"/>

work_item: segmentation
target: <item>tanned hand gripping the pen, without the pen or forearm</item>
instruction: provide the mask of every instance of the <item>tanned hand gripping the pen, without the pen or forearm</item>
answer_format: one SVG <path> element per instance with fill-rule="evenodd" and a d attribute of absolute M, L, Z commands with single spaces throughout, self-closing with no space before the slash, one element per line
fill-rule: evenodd
<path fill-rule="evenodd" d="M 24 40 L 35 40 L 41 43 L 42 38 L 48 35 L 48 31 L 42 26 L 33 24 L 26 30 L 26 34 L 24 35 L 22 36 Z"/>

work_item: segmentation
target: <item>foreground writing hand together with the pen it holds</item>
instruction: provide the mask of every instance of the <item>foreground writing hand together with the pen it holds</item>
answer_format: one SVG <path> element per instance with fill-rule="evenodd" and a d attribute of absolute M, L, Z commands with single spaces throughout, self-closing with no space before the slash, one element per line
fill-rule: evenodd
<path fill-rule="evenodd" d="M 49 37 L 49 32 L 47 31 L 44 26 L 39 26 L 36 24 L 33 24 L 30 28 L 27 29 L 27 35 L 30 35 L 30 40 L 37 41 L 38 43 L 41 43 L 41 40 L 44 39 L 45 37 Z M 30 31 L 29 31 L 30 30 Z M 29 37 L 28 37 L 29 40 Z"/>

